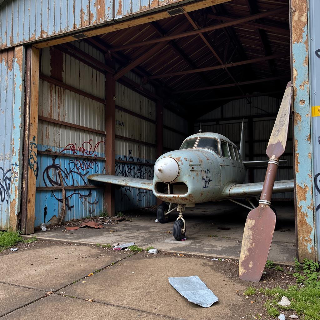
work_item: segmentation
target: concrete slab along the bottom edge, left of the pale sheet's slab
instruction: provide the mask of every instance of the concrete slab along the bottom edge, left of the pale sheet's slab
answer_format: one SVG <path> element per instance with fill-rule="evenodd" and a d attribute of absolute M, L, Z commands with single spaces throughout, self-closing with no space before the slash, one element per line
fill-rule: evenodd
<path fill-rule="evenodd" d="M 62 297 L 52 294 L 24 308 L 20 308 L 2 320 L 165 320 L 162 316 L 153 315 L 139 310 L 119 308 L 96 302 Z"/>

